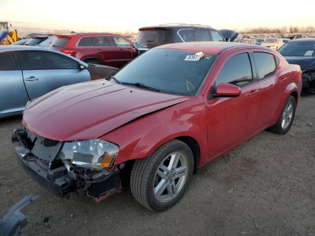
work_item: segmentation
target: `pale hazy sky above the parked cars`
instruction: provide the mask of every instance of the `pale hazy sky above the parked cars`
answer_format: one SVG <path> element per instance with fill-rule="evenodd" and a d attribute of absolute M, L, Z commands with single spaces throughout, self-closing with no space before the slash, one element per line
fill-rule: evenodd
<path fill-rule="evenodd" d="M 137 32 L 166 23 L 301 27 L 315 25 L 314 8 L 315 0 L 0 0 L 0 21 L 17 29 L 77 32 Z"/>

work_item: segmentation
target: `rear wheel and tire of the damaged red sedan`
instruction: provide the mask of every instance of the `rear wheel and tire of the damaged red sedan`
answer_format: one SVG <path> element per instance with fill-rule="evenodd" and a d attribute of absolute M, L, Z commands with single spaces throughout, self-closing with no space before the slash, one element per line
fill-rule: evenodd
<path fill-rule="evenodd" d="M 286 134 L 290 130 L 293 123 L 295 109 L 295 98 L 289 95 L 284 103 L 284 107 L 281 111 L 279 119 L 277 120 L 277 123 L 269 127 L 269 130 L 276 134 Z"/>

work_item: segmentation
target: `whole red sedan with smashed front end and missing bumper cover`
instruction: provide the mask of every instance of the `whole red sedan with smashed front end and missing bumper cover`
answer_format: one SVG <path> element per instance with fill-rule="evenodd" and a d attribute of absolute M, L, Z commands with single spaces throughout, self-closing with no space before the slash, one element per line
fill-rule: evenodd
<path fill-rule="evenodd" d="M 65 86 L 27 104 L 12 142 L 25 171 L 63 197 L 100 201 L 129 174 L 134 198 L 175 205 L 201 166 L 269 128 L 285 134 L 301 69 L 276 51 L 229 42 L 156 47 L 110 81 Z"/>

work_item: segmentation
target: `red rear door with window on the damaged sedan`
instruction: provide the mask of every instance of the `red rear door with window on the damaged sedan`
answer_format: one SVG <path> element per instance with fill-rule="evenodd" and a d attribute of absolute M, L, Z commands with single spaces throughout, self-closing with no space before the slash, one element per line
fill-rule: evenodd
<path fill-rule="evenodd" d="M 280 58 L 269 50 L 251 50 L 261 90 L 258 128 L 271 125 L 287 86 L 287 73 L 278 67 Z M 277 62 L 278 61 L 278 62 Z"/>

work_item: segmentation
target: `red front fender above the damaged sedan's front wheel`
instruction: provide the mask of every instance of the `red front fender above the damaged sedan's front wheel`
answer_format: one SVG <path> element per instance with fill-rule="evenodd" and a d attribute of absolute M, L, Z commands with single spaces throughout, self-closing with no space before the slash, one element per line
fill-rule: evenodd
<path fill-rule="evenodd" d="M 201 162 L 206 160 L 207 153 L 206 119 L 204 98 L 193 97 L 127 123 L 100 138 L 120 147 L 116 165 L 131 159 L 145 158 L 162 144 L 181 136 L 189 136 L 197 141 Z"/>

